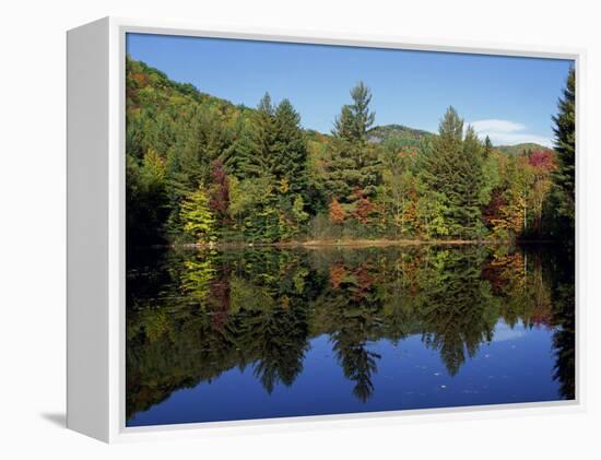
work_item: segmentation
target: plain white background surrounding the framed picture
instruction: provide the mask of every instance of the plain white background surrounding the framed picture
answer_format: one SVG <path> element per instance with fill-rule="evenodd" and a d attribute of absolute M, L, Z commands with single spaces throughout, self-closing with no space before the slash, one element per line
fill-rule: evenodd
<path fill-rule="evenodd" d="M 235 3 L 235 4 L 234 4 Z M 593 458 L 601 453 L 598 396 L 601 28 L 593 1 L 379 0 L 292 2 L 104 0 L 2 4 L 0 27 L 0 457 L 105 458 Z M 64 31 L 111 14 L 200 24 L 257 25 L 416 38 L 588 48 L 589 215 L 585 285 L 589 410 L 559 416 L 415 423 L 231 439 L 107 447 L 58 426 L 64 414 Z M 587 211 L 585 210 L 585 212 Z M 7 257 L 8 255 L 8 257 Z M 584 280 L 586 281 L 586 280 Z M 599 325 L 599 326 L 597 326 Z M 597 326 L 597 327 L 596 327 Z M 62 423 L 62 422 L 60 422 Z M 597 426 L 593 424 L 597 423 Z M 298 427 L 296 427 L 298 429 Z M 591 451 L 592 449 L 592 451 Z M 589 451 L 589 453 L 585 453 Z M 12 453 L 7 455 L 8 451 Z M 310 457 L 309 457 L 310 458 Z"/>

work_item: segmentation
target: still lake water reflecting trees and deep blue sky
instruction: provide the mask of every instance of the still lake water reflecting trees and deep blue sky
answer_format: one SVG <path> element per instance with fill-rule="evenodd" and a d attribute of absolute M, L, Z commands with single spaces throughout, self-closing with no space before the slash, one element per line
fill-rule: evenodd
<path fill-rule="evenodd" d="M 574 399 L 574 327 L 547 246 L 145 250 L 127 426 Z"/>

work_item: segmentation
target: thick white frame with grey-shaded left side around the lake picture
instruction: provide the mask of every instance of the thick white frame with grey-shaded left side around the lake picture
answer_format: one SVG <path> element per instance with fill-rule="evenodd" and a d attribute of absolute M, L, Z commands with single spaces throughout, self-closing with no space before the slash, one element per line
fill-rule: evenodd
<path fill-rule="evenodd" d="M 580 114 L 586 97 L 582 49 L 432 43 L 411 38 L 210 27 L 167 21 L 105 17 L 67 34 L 68 56 L 68 412 L 67 426 L 103 441 L 264 433 L 563 413 L 586 408 L 582 350 L 585 306 L 582 216 L 577 176 L 576 399 L 457 409 L 391 411 L 153 427 L 125 424 L 125 59 L 126 34 L 152 33 L 374 48 L 573 59 L 577 75 L 577 170 L 585 169 Z"/>

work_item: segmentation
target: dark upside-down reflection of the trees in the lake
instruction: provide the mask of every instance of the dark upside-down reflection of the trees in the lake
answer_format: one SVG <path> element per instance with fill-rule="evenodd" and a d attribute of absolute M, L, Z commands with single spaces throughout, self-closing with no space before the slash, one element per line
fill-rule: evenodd
<path fill-rule="evenodd" d="M 380 359 L 370 342 L 419 334 L 455 376 L 499 320 L 554 331 L 554 378 L 573 399 L 574 261 L 552 248 L 130 253 L 127 417 L 234 367 L 251 366 L 268 393 L 290 387 L 321 334 L 365 402 Z"/>

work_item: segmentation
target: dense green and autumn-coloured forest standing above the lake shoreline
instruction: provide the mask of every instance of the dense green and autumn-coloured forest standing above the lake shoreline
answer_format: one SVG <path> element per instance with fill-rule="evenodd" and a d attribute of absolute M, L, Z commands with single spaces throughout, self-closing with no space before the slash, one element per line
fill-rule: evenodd
<path fill-rule="evenodd" d="M 332 131 L 288 99 L 234 105 L 127 58 L 127 243 L 574 240 L 575 74 L 554 150 L 494 146 L 455 108 L 438 133 L 377 126 L 358 82 Z"/>

